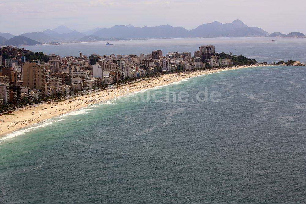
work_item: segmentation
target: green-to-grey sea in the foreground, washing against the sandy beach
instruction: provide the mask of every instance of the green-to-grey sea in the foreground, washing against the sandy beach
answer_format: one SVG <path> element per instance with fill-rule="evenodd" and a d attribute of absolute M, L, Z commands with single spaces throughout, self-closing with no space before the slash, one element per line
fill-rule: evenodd
<path fill-rule="evenodd" d="M 49 119 L 0 140 L 0 203 L 303 203 L 305 87 L 304 66 L 230 70 Z"/>

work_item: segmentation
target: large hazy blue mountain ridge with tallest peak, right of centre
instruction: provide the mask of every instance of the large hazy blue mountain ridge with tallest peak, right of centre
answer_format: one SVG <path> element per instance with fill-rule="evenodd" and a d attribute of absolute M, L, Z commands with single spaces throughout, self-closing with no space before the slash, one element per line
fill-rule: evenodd
<path fill-rule="evenodd" d="M 94 33 L 101 38 L 176 38 L 176 37 L 258 37 L 268 36 L 269 33 L 257 27 L 248 27 L 240 20 L 232 23 L 222 24 L 212 22 L 199 25 L 190 31 L 182 27 L 172 27 L 171 25 L 161 25 L 155 27 L 133 27 L 113 26 L 104 28 Z"/>

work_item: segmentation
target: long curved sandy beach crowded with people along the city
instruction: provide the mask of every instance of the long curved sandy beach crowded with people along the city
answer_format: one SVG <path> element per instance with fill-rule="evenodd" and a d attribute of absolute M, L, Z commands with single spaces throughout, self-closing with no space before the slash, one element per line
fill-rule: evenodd
<path fill-rule="evenodd" d="M 51 104 L 39 104 L 31 108 L 22 108 L 14 111 L 13 115 L 0 116 L 0 143 L 8 134 L 29 127 L 33 124 L 44 122 L 60 115 L 68 114 L 72 111 L 97 104 L 107 102 L 125 96 L 130 93 L 136 93 L 148 89 L 155 89 L 161 86 L 170 85 L 174 82 L 179 82 L 191 77 L 197 77 L 205 74 L 216 73 L 220 71 L 236 70 L 253 67 L 266 67 L 275 65 L 245 65 L 233 66 L 229 68 L 219 68 L 216 70 L 198 70 L 179 72 L 173 74 L 165 74 L 159 77 L 140 80 L 139 82 L 130 82 L 125 85 L 118 86 L 116 89 L 108 89 L 106 91 L 98 91 L 88 95 L 79 96 L 76 98 L 67 99 L 61 102 L 52 102 Z M 276 65 L 277 66 L 277 65 Z M 2 141 L 1 141 L 2 140 Z"/>

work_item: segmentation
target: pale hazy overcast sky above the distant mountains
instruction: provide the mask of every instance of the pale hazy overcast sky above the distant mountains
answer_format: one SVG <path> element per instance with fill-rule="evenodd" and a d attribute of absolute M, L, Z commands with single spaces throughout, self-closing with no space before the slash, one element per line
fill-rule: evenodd
<path fill-rule="evenodd" d="M 190 30 L 240 19 L 269 33 L 306 34 L 305 8 L 305 0 L 1 0 L 0 32 L 16 35 L 59 25 L 82 32 L 128 24 Z"/>

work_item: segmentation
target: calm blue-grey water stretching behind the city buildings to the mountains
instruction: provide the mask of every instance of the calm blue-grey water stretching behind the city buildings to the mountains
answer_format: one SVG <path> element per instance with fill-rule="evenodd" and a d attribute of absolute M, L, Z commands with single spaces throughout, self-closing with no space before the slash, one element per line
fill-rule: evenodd
<path fill-rule="evenodd" d="M 43 52 L 47 55 L 55 53 L 61 57 L 79 56 L 79 52 L 88 57 L 93 53 L 99 55 L 110 54 L 147 54 L 154 50 L 162 50 L 163 55 L 168 52 L 193 52 L 201 45 L 215 45 L 215 51 L 243 55 L 258 62 L 279 62 L 296 60 L 306 63 L 306 38 L 275 38 L 274 42 L 268 37 L 254 38 L 176 38 L 112 41 L 114 45 L 104 42 L 66 43 L 62 45 L 24 46 L 27 50 Z"/>

